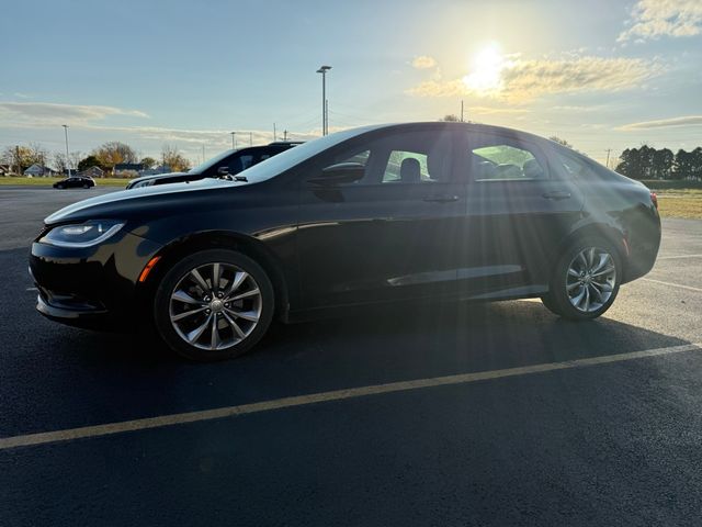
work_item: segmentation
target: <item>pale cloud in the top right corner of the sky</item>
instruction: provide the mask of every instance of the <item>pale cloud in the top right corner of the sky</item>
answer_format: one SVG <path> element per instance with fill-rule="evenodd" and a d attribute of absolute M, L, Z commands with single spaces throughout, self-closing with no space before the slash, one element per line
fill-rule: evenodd
<path fill-rule="evenodd" d="M 702 33 L 700 0 L 638 0 L 632 10 L 632 24 L 618 42 L 660 36 L 693 36 Z"/>

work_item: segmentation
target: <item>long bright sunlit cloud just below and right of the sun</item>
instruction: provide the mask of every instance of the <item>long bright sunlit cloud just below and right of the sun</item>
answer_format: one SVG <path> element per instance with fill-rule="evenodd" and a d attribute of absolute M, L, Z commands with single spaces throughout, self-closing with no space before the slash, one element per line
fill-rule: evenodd
<path fill-rule="evenodd" d="M 426 80 L 409 89 L 408 93 L 420 97 L 472 96 L 520 103 L 551 93 L 631 89 L 658 75 L 660 69 L 655 60 L 641 58 L 514 58 L 502 63 L 499 83 L 489 90 L 472 88 L 465 81 L 468 75 L 463 79 Z"/>

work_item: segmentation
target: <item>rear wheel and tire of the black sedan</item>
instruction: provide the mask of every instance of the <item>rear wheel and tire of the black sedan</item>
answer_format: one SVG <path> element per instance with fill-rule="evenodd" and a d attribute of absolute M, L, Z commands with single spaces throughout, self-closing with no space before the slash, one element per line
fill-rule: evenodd
<path fill-rule="evenodd" d="M 589 321 L 610 309 L 622 279 L 622 260 L 608 240 L 586 237 L 568 246 L 556 262 L 543 304 L 570 321 Z"/>

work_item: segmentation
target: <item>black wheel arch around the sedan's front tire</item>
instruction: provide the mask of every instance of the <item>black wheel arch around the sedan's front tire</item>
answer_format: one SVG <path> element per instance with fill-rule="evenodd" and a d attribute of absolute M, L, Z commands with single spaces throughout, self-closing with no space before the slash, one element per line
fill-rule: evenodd
<path fill-rule="evenodd" d="M 273 284 L 273 293 L 275 295 L 275 313 L 274 316 L 286 319 L 290 309 L 290 285 L 281 270 L 281 265 L 276 257 L 258 239 L 231 233 L 226 231 L 207 231 L 194 233 L 183 238 L 176 239 L 163 248 L 157 255 L 160 257 L 149 272 L 146 281 L 140 284 L 139 296 L 148 301 L 146 305 L 150 306 L 156 294 L 156 289 L 166 272 L 180 259 L 188 255 L 207 249 L 230 249 L 248 256 L 259 264 L 267 272 Z M 150 310 L 149 310 L 150 311 Z"/>

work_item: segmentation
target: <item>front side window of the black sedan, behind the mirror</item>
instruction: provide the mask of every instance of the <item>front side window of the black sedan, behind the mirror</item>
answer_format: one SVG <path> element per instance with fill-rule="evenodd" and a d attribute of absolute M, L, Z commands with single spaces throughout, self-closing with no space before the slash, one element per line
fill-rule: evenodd
<path fill-rule="evenodd" d="M 452 179 L 452 137 L 445 130 L 374 134 L 371 139 L 359 138 L 355 147 L 325 158 L 321 169 L 335 165 L 363 177 L 341 184 L 434 183 Z M 352 178 L 350 178 L 352 179 Z"/>

